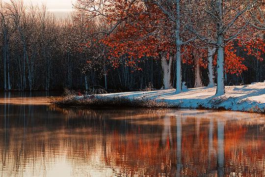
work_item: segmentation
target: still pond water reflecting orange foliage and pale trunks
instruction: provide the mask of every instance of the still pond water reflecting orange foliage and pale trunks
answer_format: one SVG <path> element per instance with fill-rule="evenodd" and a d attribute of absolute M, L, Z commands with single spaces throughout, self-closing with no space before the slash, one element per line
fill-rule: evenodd
<path fill-rule="evenodd" d="M 0 93 L 1 177 L 265 176 L 265 116 L 69 109 Z"/>

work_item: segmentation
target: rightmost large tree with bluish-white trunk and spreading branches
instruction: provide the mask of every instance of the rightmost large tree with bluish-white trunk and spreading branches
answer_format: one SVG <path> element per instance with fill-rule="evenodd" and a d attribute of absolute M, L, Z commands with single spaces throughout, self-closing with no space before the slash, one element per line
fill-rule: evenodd
<path fill-rule="evenodd" d="M 216 96 L 223 95 L 225 93 L 224 88 L 224 52 L 225 45 L 231 40 L 238 37 L 238 35 L 249 25 L 249 19 L 246 12 L 253 8 L 254 2 L 249 1 L 237 1 L 229 0 L 224 2 L 223 0 L 206 0 L 202 1 L 198 9 L 198 13 L 201 9 L 205 12 L 206 16 L 210 16 L 212 19 L 209 22 L 209 26 L 215 26 L 210 34 L 214 33 L 216 37 L 204 36 L 194 26 L 188 26 L 188 29 L 197 34 L 198 37 L 204 42 L 215 45 L 217 50 L 217 89 Z M 229 9 L 229 10 L 227 10 Z M 244 22 L 239 26 L 240 22 Z"/>

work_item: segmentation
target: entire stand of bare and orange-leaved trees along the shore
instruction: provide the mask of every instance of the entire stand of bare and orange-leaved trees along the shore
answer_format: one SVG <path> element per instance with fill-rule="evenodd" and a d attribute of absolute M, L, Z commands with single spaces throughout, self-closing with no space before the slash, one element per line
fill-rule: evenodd
<path fill-rule="evenodd" d="M 262 0 L 0 3 L 0 89 L 170 89 L 265 80 Z"/>

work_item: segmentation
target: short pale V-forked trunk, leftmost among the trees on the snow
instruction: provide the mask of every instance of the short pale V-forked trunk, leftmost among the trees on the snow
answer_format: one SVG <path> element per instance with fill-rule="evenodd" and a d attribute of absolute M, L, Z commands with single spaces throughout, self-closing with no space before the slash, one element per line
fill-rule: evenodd
<path fill-rule="evenodd" d="M 163 72 L 163 87 L 162 89 L 172 89 L 171 85 L 171 70 L 172 70 L 172 61 L 173 57 L 166 59 L 166 56 L 163 55 L 161 58 L 161 66 Z"/>

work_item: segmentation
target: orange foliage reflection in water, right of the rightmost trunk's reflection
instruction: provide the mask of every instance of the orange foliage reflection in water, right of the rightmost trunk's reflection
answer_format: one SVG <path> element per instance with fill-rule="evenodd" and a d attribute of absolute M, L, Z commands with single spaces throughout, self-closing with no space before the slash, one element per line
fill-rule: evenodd
<path fill-rule="evenodd" d="M 225 127 L 225 161 L 230 164 L 227 169 L 230 174 L 265 175 L 265 139 L 264 130 L 260 130 L 264 123 L 259 119 L 252 120 L 256 123 L 249 121 L 246 126 L 242 122 L 235 122 Z M 244 170 L 240 171 L 242 168 Z"/>

